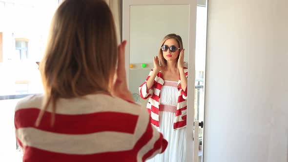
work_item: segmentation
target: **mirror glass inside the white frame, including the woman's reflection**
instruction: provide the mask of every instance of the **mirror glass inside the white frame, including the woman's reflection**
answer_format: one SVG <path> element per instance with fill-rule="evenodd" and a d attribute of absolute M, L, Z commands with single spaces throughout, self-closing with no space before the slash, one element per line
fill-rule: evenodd
<path fill-rule="evenodd" d="M 179 61 L 182 53 L 188 62 L 188 33 L 187 4 L 130 6 L 129 89 L 168 141 L 165 152 L 148 162 L 185 162 L 187 64 Z"/>

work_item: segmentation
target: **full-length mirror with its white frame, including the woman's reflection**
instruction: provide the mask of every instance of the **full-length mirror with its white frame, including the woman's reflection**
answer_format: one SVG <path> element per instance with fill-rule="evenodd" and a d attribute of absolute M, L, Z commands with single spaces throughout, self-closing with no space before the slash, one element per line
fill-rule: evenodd
<path fill-rule="evenodd" d="M 148 162 L 192 162 L 195 31 L 194 0 L 123 0 L 129 90 L 168 141 Z"/>

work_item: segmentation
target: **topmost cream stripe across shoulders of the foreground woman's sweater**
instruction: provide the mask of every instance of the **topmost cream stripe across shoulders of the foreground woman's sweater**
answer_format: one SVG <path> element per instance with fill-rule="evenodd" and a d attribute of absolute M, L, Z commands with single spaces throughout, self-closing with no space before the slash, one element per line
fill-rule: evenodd
<path fill-rule="evenodd" d="M 15 111 L 29 108 L 41 109 L 43 98 L 43 95 L 27 96 L 17 103 Z M 47 111 L 50 111 L 50 108 L 51 106 L 48 106 Z M 138 116 L 144 114 L 144 110 L 137 103 L 106 94 L 91 94 L 81 98 L 59 99 L 56 103 L 56 113 L 69 115 L 114 112 L 114 114 L 124 113 Z"/>

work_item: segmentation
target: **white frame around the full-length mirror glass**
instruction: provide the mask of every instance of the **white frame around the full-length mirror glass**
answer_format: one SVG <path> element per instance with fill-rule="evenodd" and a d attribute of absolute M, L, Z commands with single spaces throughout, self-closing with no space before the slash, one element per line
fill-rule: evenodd
<path fill-rule="evenodd" d="M 193 162 L 193 122 L 195 94 L 195 49 L 196 49 L 196 10 L 197 0 L 123 0 L 123 40 L 126 40 L 125 69 L 129 85 L 130 63 L 130 6 L 131 5 L 189 5 L 188 39 L 188 92 L 187 92 L 187 136 L 186 162 Z M 198 157 L 198 155 L 196 155 Z"/>

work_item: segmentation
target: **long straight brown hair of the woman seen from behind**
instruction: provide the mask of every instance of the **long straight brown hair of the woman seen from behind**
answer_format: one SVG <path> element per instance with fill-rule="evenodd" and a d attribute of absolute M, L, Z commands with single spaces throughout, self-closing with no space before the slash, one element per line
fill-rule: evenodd
<path fill-rule="evenodd" d="M 36 125 L 50 105 L 54 124 L 60 98 L 109 93 L 117 52 L 115 24 L 105 1 L 63 1 L 53 17 L 40 63 L 44 100 Z"/>

